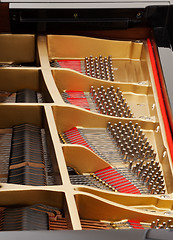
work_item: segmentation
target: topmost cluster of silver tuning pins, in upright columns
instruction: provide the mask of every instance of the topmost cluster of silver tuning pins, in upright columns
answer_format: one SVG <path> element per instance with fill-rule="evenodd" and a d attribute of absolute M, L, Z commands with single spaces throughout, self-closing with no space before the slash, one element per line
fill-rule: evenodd
<path fill-rule="evenodd" d="M 102 58 L 102 56 L 95 58 L 93 56 L 86 57 L 85 70 L 88 76 L 108 81 L 115 80 L 111 56 L 108 56 L 108 58 Z"/>

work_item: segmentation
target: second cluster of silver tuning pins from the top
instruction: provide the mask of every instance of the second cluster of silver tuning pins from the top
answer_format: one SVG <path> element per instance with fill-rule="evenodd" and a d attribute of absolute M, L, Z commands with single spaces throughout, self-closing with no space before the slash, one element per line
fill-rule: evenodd
<path fill-rule="evenodd" d="M 131 109 L 119 87 L 115 90 L 113 86 L 106 89 L 103 86 L 97 89 L 91 86 L 90 94 L 99 113 L 116 117 L 133 117 Z"/>

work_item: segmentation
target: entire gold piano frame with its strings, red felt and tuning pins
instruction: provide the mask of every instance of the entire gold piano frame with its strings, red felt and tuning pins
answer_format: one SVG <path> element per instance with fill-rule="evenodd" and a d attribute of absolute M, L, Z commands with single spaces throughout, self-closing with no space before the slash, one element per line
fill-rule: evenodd
<path fill-rule="evenodd" d="M 29 222 L 40 209 L 43 230 L 173 228 L 172 159 L 146 41 L 2 34 L 0 79 L 0 230 L 10 230 L 10 211 Z M 23 89 L 36 102 L 17 101 Z M 13 146 L 21 126 L 24 150 Z M 12 230 L 33 230 L 25 224 Z"/>

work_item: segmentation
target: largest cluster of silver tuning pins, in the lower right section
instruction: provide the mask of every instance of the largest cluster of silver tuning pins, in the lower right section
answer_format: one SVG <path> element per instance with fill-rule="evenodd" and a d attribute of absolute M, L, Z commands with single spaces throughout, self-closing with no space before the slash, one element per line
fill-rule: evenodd
<path fill-rule="evenodd" d="M 120 149 L 124 162 L 129 164 L 129 170 L 147 186 L 150 193 L 164 194 L 164 178 L 161 167 L 155 160 L 156 153 L 138 123 L 133 125 L 130 121 L 124 125 L 121 122 L 112 125 L 108 122 L 107 128 Z"/>

